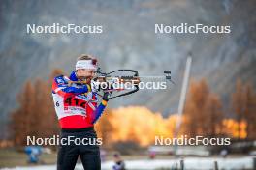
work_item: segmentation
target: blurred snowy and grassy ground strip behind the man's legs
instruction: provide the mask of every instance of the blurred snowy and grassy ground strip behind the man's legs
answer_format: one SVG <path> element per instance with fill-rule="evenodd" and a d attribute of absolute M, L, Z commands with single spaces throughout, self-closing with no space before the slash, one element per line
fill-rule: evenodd
<path fill-rule="evenodd" d="M 214 161 L 219 164 L 219 169 L 253 169 L 253 156 L 228 156 L 223 158 L 221 156 L 156 156 L 155 159 L 148 159 L 146 154 L 144 155 L 132 155 L 132 156 L 122 156 L 127 165 L 127 169 L 159 169 L 159 168 L 173 168 L 179 164 L 180 159 L 184 160 L 185 167 L 187 169 L 195 167 L 201 167 L 201 169 L 212 169 Z M 44 161 L 43 164 L 48 166 L 31 165 L 27 163 L 27 156 L 24 154 L 22 149 L 9 148 L 0 149 L 0 169 L 1 168 L 14 168 L 15 170 L 30 170 L 30 169 L 47 169 L 53 170 L 56 168 L 57 154 L 43 154 L 41 160 Z M 108 153 L 106 156 L 106 161 L 102 163 L 102 169 L 110 170 L 112 169 L 112 152 Z M 22 168 L 20 168 L 22 167 Z M 12 168 L 13 169 L 13 168 Z M 76 166 L 77 170 L 83 169 L 80 161 Z"/>

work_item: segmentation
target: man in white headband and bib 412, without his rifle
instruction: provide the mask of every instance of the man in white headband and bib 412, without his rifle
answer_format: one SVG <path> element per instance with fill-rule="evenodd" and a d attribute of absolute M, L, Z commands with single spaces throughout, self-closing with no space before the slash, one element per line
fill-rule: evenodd
<path fill-rule="evenodd" d="M 90 80 L 97 70 L 97 60 L 89 55 L 81 55 L 76 64 L 76 71 L 69 77 L 56 76 L 52 83 L 52 97 L 55 111 L 61 128 L 61 139 L 70 136 L 97 139 L 93 128 L 94 123 L 102 115 L 107 102 L 108 93 L 104 93 L 100 104 L 97 104 L 97 94 L 90 86 Z M 77 82 L 70 84 L 69 82 Z M 87 83 L 80 83 L 86 81 Z M 64 141 L 64 140 L 63 140 Z M 86 170 L 100 170 L 100 151 L 97 144 L 68 145 L 60 144 L 57 158 L 58 170 L 73 170 L 78 156 Z"/>

